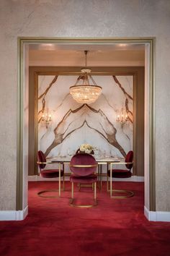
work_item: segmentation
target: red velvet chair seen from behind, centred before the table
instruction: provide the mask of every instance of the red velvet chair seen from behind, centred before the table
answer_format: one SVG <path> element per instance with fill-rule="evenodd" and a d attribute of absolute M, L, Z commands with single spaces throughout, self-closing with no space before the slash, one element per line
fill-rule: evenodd
<path fill-rule="evenodd" d="M 97 162 L 92 155 L 87 153 L 78 153 L 73 155 L 70 162 L 71 169 L 71 202 L 70 205 L 75 207 L 90 208 L 97 205 Z M 73 197 L 73 184 L 94 184 L 94 204 L 93 205 L 76 205 Z"/>

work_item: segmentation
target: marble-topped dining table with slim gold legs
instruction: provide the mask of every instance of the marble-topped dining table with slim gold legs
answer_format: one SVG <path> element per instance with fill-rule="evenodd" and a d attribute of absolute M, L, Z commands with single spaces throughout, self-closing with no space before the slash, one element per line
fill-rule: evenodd
<path fill-rule="evenodd" d="M 70 163 L 71 158 L 73 155 L 66 155 L 66 156 L 56 156 L 53 158 L 48 158 L 47 163 L 53 164 L 58 163 L 58 170 L 59 170 L 59 176 L 58 176 L 58 196 L 61 197 L 61 165 L 65 163 Z M 109 157 L 94 157 L 98 164 L 98 174 L 99 174 L 99 184 L 100 189 L 102 190 L 102 165 L 109 165 L 110 170 L 112 170 L 112 166 L 115 165 L 125 165 L 127 162 L 125 162 L 125 158 L 115 158 L 112 156 Z M 110 197 L 112 198 L 112 171 L 110 171 Z"/>

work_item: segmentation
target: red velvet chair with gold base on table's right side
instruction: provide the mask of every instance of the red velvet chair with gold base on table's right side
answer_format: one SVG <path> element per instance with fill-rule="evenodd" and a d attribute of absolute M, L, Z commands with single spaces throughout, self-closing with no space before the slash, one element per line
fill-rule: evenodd
<path fill-rule="evenodd" d="M 130 150 L 128 154 L 125 157 L 125 167 L 126 168 L 121 168 L 121 169 L 112 169 L 112 178 L 130 178 L 132 176 L 131 168 L 133 168 L 133 151 Z M 107 166 L 107 191 L 109 191 L 109 186 L 108 186 L 108 177 L 110 177 L 110 170 Z M 113 192 L 116 194 L 120 195 L 113 195 L 112 197 L 114 198 L 127 198 L 127 197 L 133 197 L 134 193 L 128 190 L 120 190 L 120 189 L 113 189 Z"/>

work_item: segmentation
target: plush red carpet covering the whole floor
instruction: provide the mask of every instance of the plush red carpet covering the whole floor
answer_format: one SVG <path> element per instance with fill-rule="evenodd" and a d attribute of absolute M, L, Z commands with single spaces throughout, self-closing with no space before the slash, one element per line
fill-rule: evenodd
<path fill-rule="evenodd" d="M 68 205 L 70 186 L 61 199 L 41 198 L 55 182 L 29 182 L 29 214 L 24 221 L 0 222 L 0 255 L 29 256 L 169 256 L 170 223 L 150 222 L 143 215 L 143 183 L 115 182 L 134 197 L 111 200 L 97 190 L 96 208 Z M 80 194 L 79 194 L 80 195 Z M 83 197 L 89 192 L 82 192 Z"/>

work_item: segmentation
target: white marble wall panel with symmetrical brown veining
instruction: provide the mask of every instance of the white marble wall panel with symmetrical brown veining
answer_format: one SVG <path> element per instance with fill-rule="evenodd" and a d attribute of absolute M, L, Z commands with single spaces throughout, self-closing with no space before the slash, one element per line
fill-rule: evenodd
<path fill-rule="evenodd" d="M 95 103 L 76 103 L 69 94 L 76 75 L 38 76 L 38 150 L 47 156 L 73 154 L 82 143 L 89 143 L 97 155 L 125 157 L 133 150 L 133 76 L 94 75 L 102 95 Z M 117 115 L 128 121 L 117 121 Z M 42 114 L 52 121 L 45 126 Z"/>

